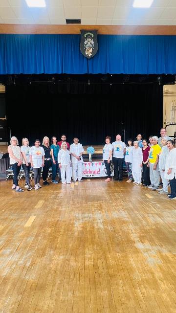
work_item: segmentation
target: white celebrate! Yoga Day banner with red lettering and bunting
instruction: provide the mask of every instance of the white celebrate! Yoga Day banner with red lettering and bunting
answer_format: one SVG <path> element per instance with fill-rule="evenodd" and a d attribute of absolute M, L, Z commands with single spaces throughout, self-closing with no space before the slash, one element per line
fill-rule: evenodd
<path fill-rule="evenodd" d="M 110 165 L 110 175 L 113 176 L 113 165 Z M 107 176 L 104 162 L 84 162 L 83 177 L 103 177 Z"/>

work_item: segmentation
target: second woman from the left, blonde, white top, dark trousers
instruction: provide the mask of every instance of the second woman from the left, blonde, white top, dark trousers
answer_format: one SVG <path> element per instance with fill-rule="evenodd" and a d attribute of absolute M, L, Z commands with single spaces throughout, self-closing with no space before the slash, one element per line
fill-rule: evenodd
<path fill-rule="evenodd" d="M 29 172 L 31 168 L 31 163 L 30 163 L 30 156 L 29 156 L 29 140 L 27 138 L 22 138 L 22 147 L 21 147 L 21 154 L 22 154 L 22 168 L 25 174 L 25 188 L 27 190 L 31 190 L 32 186 L 30 184 L 29 180 Z"/>

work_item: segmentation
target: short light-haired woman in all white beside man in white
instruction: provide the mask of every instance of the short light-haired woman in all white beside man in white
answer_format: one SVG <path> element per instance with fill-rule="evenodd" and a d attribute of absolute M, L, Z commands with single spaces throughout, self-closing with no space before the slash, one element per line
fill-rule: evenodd
<path fill-rule="evenodd" d="M 59 150 L 58 154 L 58 163 L 59 168 L 61 169 L 61 178 L 63 184 L 70 184 L 71 183 L 71 171 L 70 171 L 70 154 L 67 150 L 66 142 L 62 142 L 61 149 Z M 66 177 L 66 178 L 65 178 Z"/>

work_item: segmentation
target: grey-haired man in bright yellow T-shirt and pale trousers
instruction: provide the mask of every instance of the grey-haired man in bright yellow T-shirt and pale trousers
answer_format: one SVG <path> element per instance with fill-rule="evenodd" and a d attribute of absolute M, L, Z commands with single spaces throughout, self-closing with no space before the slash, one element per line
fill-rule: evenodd
<path fill-rule="evenodd" d="M 149 152 L 149 163 L 147 165 L 148 167 L 150 167 L 150 180 L 151 180 L 151 185 L 148 186 L 148 188 L 151 188 L 152 190 L 159 189 L 159 181 L 160 181 L 157 156 L 161 152 L 161 147 L 157 144 L 157 141 L 158 141 L 158 137 L 153 136 L 152 137 L 153 146 L 151 147 L 150 152 Z"/>

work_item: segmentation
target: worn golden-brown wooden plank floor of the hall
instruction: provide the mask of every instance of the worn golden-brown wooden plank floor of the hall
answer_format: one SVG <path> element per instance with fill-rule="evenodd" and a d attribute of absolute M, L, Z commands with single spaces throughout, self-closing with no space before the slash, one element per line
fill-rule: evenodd
<path fill-rule="evenodd" d="M 0 313 L 176 312 L 175 200 L 104 179 L 11 186 L 0 181 Z"/>

